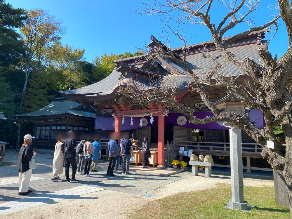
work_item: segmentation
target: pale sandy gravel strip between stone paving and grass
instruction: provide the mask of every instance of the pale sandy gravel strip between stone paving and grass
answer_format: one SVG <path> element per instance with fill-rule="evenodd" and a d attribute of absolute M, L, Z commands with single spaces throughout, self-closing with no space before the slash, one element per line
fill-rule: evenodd
<path fill-rule="evenodd" d="M 85 195 L 76 199 L 63 199 L 55 204 L 44 204 L 36 208 L 29 208 L 23 211 L 4 215 L 3 218 L 119 218 L 126 219 L 127 214 L 135 211 L 155 199 L 164 198 L 179 192 L 190 192 L 205 190 L 217 186 L 217 183 L 229 183 L 229 176 L 212 175 L 206 179 L 203 174 L 201 177 L 191 175 L 181 180 L 175 181 L 156 190 L 151 191 L 154 197 L 143 197 L 138 195 L 126 194 L 110 190 L 102 190 Z M 272 180 L 244 179 L 247 186 L 273 186 Z M 231 194 L 230 194 L 231 196 Z"/>

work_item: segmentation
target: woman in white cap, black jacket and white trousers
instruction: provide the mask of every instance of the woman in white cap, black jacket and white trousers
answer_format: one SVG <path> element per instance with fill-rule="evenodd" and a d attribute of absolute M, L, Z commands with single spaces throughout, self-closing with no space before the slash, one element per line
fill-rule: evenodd
<path fill-rule="evenodd" d="M 36 152 L 32 150 L 32 137 L 25 135 L 23 137 L 23 144 L 19 150 L 18 156 L 18 172 L 19 172 L 19 192 L 18 195 L 27 195 L 32 190 L 29 190 L 28 185 L 32 176 L 32 169 L 29 169 L 29 161 Z"/>

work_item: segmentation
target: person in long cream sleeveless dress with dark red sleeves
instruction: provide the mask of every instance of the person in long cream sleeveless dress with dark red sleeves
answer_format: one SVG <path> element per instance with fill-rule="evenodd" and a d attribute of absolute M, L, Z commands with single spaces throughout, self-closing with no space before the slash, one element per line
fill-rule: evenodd
<path fill-rule="evenodd" d="M 58 174 L 63 173 L 63 159 L 64 159 L 64 139 L 58 139 L 55 145 L 54 159 L 53 159 L 53 177 L 52 181 L 61 179 Z"/>

